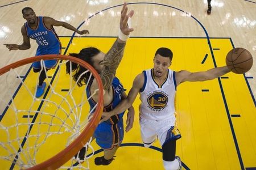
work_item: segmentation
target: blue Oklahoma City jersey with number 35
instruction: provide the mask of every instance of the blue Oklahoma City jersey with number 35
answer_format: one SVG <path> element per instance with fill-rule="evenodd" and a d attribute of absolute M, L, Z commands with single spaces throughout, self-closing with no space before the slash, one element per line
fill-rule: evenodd
<path fill-rule="evenodd" d="M 27 36 L 36 40 L 36 43 L 38 43 L 36 56 L 44 54 L 60 54 L 61 43 L 59 37 L 53 27 L 51 29 L 46 28 L 43 18 L 43 16 L 38 16 L 38 25 L 35 29 L 30 28 L 27 22 L 24 23 Z"/>

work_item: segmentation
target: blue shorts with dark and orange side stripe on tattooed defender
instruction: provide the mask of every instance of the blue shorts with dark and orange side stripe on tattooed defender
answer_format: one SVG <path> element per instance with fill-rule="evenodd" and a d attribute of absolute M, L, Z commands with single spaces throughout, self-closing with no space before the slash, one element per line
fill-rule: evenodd
<path fill-rule="evenodd" d="M 114 146 L 120 146 L 123 141 L 123 119 L 117 124 L 102 122 L 94 131 L 96 143 L 104 150 L 111 150 Z"/>

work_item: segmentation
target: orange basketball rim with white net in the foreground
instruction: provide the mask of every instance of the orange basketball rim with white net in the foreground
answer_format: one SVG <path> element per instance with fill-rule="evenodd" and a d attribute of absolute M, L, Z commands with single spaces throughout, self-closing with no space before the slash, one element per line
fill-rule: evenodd
<path fill-rule="evenodd" d="M 46 71 L 43 62 L 48 59 L 63 60 L 52 70 L 55 71 L 52 77 L 51 71 Z M 31 63 L 35 61 L 41 62 L 41 71 L 46 71 L 47 75 L 45 82 L 48 86 L 44 96 L 40 98 L 35 97 L 38 81 L 33 78 L 30 81 L 27 75 L 27 78 L 22 76 L 22 71 L 31 67 Z M 77 82 L 73 81 L 72 74 L 65 73 L 67 62 L 70 66 L 72 62 L 86 68 L 85 72 L 90 73 L 90 78 L 96 79 L 98 90 L 92 96 L 98 94 L 99 100 L 92 111 L 88 103 L 88 98 L 92 96 L 86 96 L 86 86 L 79 88 Z M 36 79 L 39 79 L 39 73 L 28 71 L 28 74 L 36 75 Z M 66 169 L 72 168 L 76 163 L 72 160 L 73 156 L 82 147 L 91 148 L 91 136 L 100 121 L 104 92 L 97 71 L 79 58 L 45 55 L 22 59 L 3 67 L 0 69 L 0 78 L 1 86 L 5 83 L 0 96 L 1 166 L 8 162 L 7 164 L 18 166 L 19 169 L 57 169 L 61 165 Z M 17 88 L 18 94 L 15 92 Z M 49 154 L 48 150 L 55 149 L 59 150 Z M 50 159 L 43 159 L 42 154 Z M 88 168 L 89 164 L 84 169 Z"/>

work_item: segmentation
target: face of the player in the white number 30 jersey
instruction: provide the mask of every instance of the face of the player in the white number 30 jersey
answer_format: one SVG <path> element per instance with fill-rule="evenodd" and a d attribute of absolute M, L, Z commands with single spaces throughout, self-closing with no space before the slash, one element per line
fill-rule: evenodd
<path fill-rule="evenodd" d="M 160 56 L 160 54 L 156 54 L 154 58 L 154 75 L 159 78 L 166 75 L 170 65 L 171 59 L 169 57 L 163 57 Z"/>

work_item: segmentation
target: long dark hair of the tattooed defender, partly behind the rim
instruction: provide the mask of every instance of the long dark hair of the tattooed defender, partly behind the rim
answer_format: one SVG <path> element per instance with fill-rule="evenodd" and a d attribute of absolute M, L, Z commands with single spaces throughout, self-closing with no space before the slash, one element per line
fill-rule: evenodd
<path fill-rule="evenodd" d="M 69 56 L 72 57 L 76 57 L 76 58 L 80 58 L 82 60 L 84 60 L 85 62 L 89 63 L 89 65 L 93 66 L 93 61 L 92 58 L 94 56 L 96 56 L 97 54 L 99 54 L 101 51 L 97 48 L 94 47 L 89 47 L 89 48 L 84 48 L 81 49 L 81 51 L 77 54 L 77 53 L 71 53 L 69 54 Z M 70 68 L 70 66 L 72 68 Z M 93 66 L 94 67 L 94 66 Z M 72 72 L 75 72 L 72 76 L 73 79 L 75 81 L 77 81 L 79 79 L 79 76 L 84 73 L 84 71 L 86 71 L 87 69 L 85 69 L 84 67 L 82 67 L 81 65 L 77 65 L 77 63 L 70 63 L 67 62 L 66 63 L 66 73 L 67 74 L 72 74 Z M 89 80 L 89 76 L 90 76 L 90 72 L 85 73 L 84 75 L 81 76 L 81 78 L 79 79 L 79 81 L 77 82 L 77 85 L 79 87 L 83 86 L 84 84 L 88 83 Z M 93 79 L 93 78 L 92 78 Z"/>

